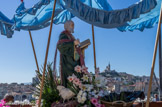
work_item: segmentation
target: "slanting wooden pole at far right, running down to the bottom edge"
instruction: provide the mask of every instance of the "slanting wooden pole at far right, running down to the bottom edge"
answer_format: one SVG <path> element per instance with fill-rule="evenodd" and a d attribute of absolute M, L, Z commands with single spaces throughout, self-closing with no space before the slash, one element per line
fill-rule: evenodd
<path fill-rule="evenodd" d="M 149 89 L 148 89 L 148 93 L 147 93 L 146 107 L 149 107 L 149 102 L 150 102 L 150 92 L 151 92 L 151 87 L 152 87 L 152 78 L 153 78 L 153 74 L 154 74 L 157 46 L 158 46 L 158 42 L 159 42 L 161 18 L 162 18 L 162 7 L 161 7 L 161 10 L 160 10 L 159 23 L 158 23 L 158 29 L 157 29 L 157 34 L 156 34 L 156 41 L 155 41 L 154 54 L 153 54 L 153 60 L 152 60 L 152 66 L 151 66 L 151 75 L 150 75 L 150 81 L 149 81 Z"/>

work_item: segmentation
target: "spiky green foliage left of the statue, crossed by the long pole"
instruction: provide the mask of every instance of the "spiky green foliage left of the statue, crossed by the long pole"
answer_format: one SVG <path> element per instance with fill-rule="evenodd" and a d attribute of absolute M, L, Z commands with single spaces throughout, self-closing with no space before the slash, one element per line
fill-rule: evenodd
<path fill-rule="evenodd" d="M 42 81 L 42 75 L 43 75 L 43 67 L 40 70 L 40 72 L 37 71 L 37 76 L 39 78 L 39 82 Z M 42 99 L 43 99 L 43 107 L 50 107 L 53 102 L 59 101 L 60 96 L 59 92 L 57 90 L 56 83 L 53 78 L 53 70 L 52 70 L 52 64 L 47 64 L 47 69 L 45 71 L 45 78 L 44 78 L 44 88 L 42 92 Z M 40 94 L 40 84 L 39 87 L 37 87 L 36 94 Z"/>

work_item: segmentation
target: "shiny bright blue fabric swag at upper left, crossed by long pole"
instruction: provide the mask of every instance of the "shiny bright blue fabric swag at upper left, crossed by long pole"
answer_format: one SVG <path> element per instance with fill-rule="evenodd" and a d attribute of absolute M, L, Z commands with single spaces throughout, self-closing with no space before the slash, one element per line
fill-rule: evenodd
<path fill-rule="evenodd" d="M 53 11 L 54 0 L 41 0 L 30 9 L 26 9 L 22 3 L 14 15 L 14 28 L 16 30 L 39 30 L 49 26 Z M 60 24 L 70 20 L 73 15 L 56 4 L 54 23 Z"/>

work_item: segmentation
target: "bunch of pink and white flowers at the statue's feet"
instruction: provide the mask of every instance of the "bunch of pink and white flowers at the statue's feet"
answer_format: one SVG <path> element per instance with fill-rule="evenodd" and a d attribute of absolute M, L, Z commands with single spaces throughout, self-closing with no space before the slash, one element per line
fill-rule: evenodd
<path fill-rule="evenodd" d="M 79 106 L 104 107 L 100 103 L 100 98 L 108 95 L 106 90 L 107 80 L 99 74 L 99 68 L 95 71 L 96 75 L 89 73 L 85 66 L 77 65 L 74 70 L 76 75 L 68 77 L 68 88 L 76 94 Z"/>

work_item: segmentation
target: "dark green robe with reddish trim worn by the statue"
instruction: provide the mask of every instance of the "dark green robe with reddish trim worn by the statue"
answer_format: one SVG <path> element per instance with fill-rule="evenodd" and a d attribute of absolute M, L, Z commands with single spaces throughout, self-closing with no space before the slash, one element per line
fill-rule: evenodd
<path fill-rule="evenodd" d="M 67 87 L 67 78 L 76 74 L 74 67 L 84 65 L 83 55 L 74 44 L 75 38 L 68 31 L 63 31 L 59 36 L 57 48 L 60 52 L 60 74 L 62 85 Z"/>

